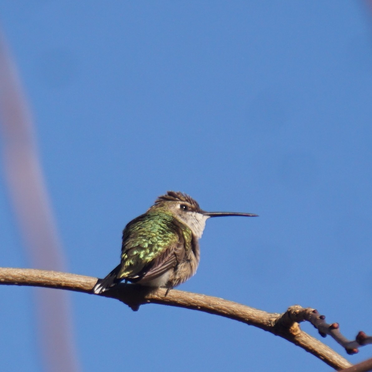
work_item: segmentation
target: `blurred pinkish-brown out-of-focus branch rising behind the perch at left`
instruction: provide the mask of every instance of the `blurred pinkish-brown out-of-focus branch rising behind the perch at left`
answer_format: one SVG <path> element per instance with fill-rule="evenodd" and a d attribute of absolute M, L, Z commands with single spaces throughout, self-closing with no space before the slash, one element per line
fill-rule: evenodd
<path fill-rule="evenodd" d="M 64 257 L 38 160 L 31 113 L 2 31 L 0 120 L 5 179 L 31 264 L 63 271 Z M 35 303 L 46 371 L 79 371 L 67 293 L 38 289 Z"/>

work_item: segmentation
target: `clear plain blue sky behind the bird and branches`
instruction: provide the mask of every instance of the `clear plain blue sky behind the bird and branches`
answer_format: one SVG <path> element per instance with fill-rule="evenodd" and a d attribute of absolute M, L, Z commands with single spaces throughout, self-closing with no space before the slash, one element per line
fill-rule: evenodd
<path fill-rule="evenodd" d="M 105 276 L 166 190 L 203 209 L 179 289 L 372 333 L 371 9 L 356 1 L 3 1 L 68 271 Z M 1 266 L 29 267 L 0 168 Z M 0 370 L 40 371 L 32 289 L 1 287 Z M 70 294 L 83 371 L 329 371 L 271 334 Z M 310 325 L 302 327 L 318 337 Z M 367 359 L 368 347 L 352 362 Z"/>

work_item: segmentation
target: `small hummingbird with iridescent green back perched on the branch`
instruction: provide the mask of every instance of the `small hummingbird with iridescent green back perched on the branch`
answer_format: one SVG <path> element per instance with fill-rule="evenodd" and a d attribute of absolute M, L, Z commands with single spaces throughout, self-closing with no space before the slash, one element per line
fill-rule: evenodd
<path fill-rule="evenodd" d="M 104 279 L 96 294 L 121 281 L 172 289 L 191 278 L 198 268 L 199 239 L 210 217 L 257 214 L 206 212 L 189 195 L 168 191 L 159 196 L 146 213 L 130 221 L 123 230 L 121 262 Z"/>

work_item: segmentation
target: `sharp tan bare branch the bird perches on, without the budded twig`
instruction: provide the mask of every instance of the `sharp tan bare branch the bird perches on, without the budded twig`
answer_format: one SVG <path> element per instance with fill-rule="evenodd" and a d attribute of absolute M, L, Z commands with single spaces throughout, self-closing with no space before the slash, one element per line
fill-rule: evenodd
<path fill-rule="evenodd" d="M 92 289 L 96 283 L 97 278 L 65 272 L 0 268 L 0 284 L 49 287 L 93 294 Z M 165 296 L 166 291 L 162 288 L 151 290 L 132 284 L 121 284 L 99 296 L 118 299 L 133 310 L 138 310 L 140 305 L 146 303 L 157 303 L 221 315 L 283 337 L 337 370 L 352 366 L 330 347 L 300 329 L 297 320 L 305 320 L 299 316 L 300 310 L 303 309 L 301 306 L 292 306 L 283 314 L 268 313 L 204 294 L 170 290 Z"/>

